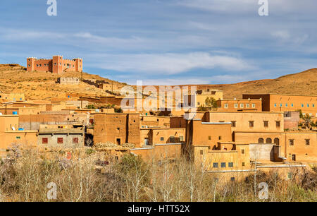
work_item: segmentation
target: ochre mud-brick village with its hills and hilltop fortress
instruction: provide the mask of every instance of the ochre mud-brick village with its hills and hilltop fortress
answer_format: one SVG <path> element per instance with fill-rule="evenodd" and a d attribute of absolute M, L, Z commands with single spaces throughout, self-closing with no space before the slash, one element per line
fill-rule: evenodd
<path fill-rule="evenodd" d="M 132 111 L 121 107 L 121 90 L 137 94 L 135 86 L 83 66 L 85 59 L 62 56 L 27 58 L 27 68 L 0 65 L 1 157 L 13 145 L 58 148 L 69 160 L 70 149 L 92 149 L 103 170 L 126 154 L 148 162 L 184 157 L 227 181 L 254 170 L 290 179 L 294 169 L 317 162 L 316 68 L 275 80 L 196 85 L 194 95 L 173 98 L 179 110 Z"/>

